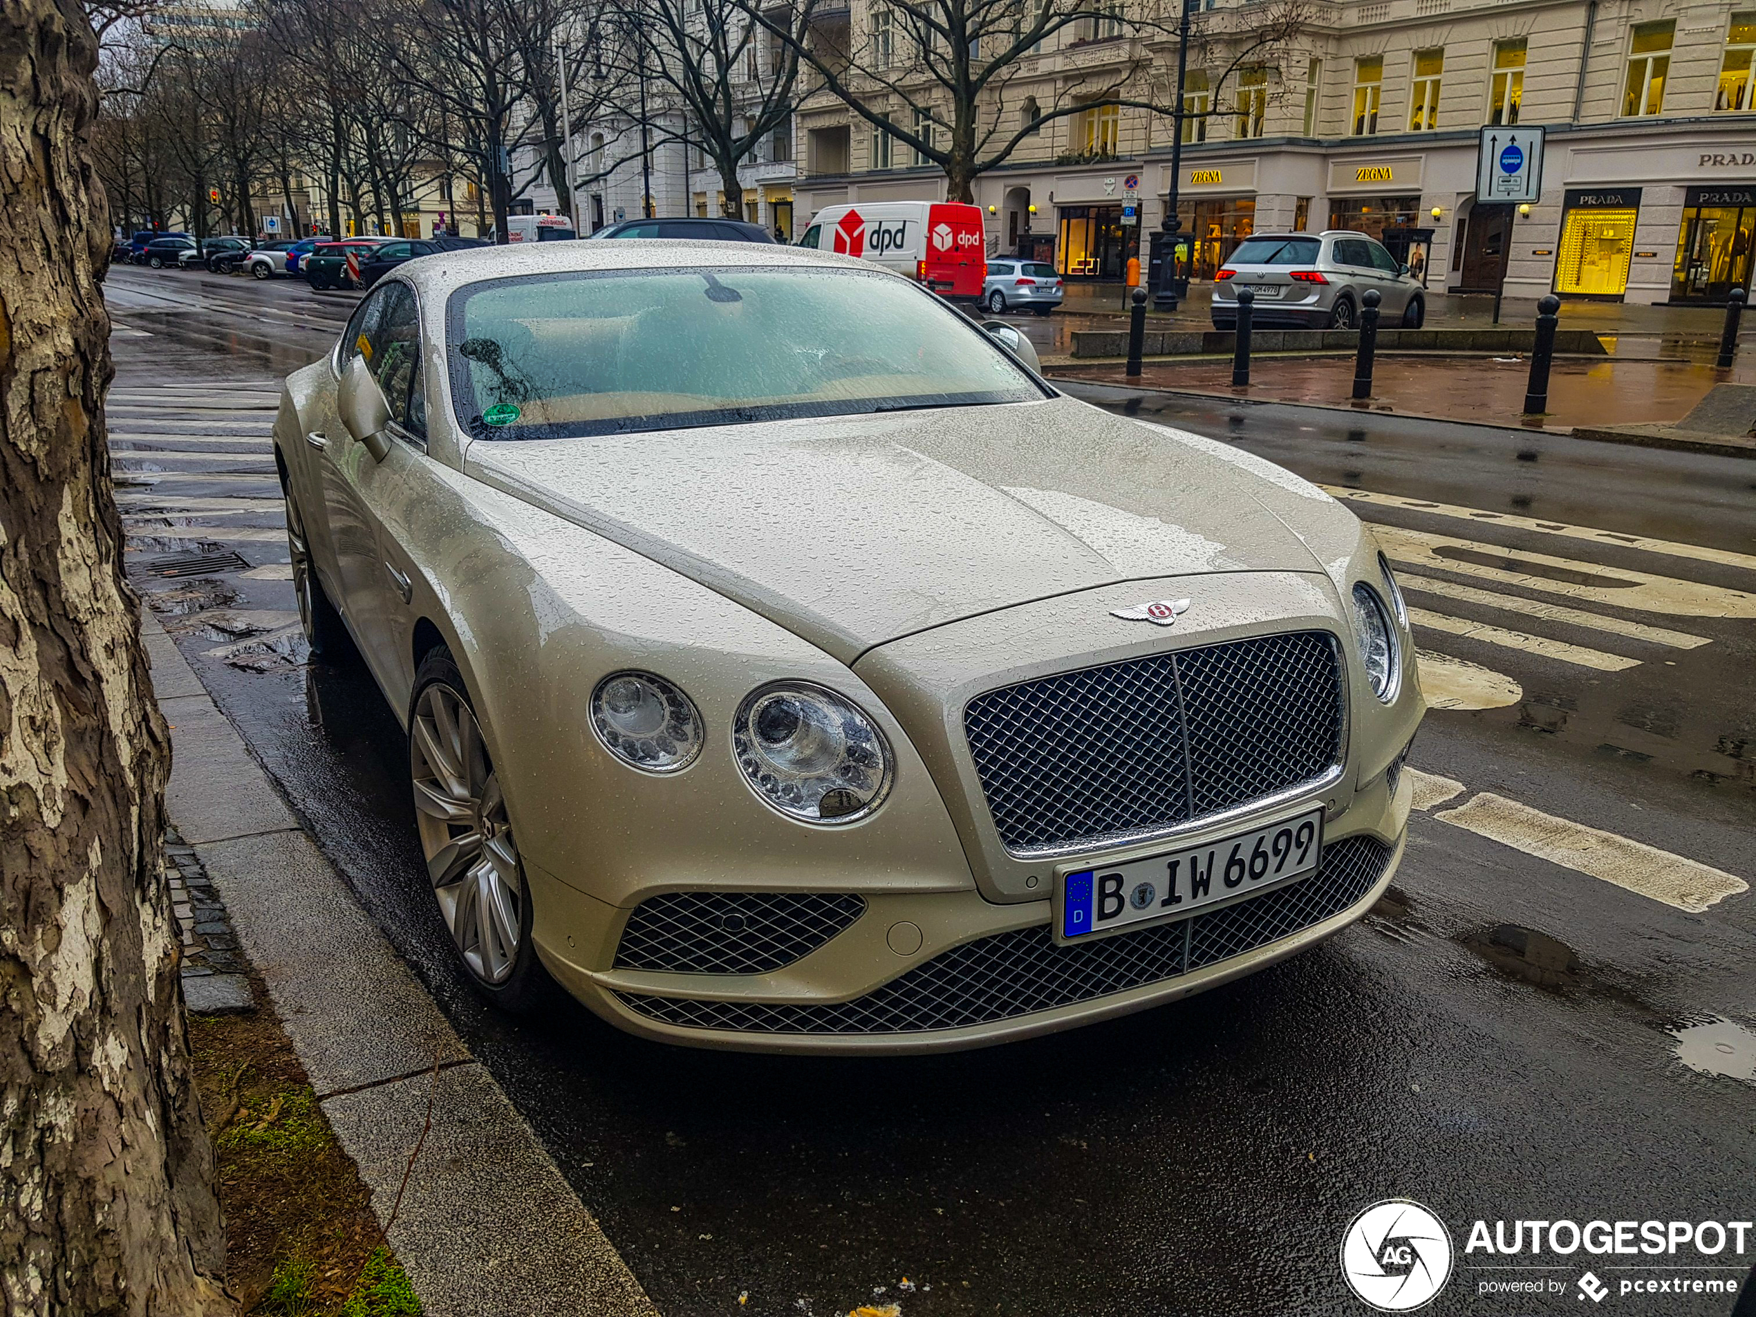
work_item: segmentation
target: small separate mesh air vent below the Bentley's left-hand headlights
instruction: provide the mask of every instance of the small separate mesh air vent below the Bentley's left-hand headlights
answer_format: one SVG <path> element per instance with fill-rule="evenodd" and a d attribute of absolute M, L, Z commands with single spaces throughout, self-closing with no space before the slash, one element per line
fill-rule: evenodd
<path fill-rule="evenodd" d="M 616 969 L 762 975 L 827 943 L 866 913 L 846 892 L 667 892 L 629 915 Z"/>

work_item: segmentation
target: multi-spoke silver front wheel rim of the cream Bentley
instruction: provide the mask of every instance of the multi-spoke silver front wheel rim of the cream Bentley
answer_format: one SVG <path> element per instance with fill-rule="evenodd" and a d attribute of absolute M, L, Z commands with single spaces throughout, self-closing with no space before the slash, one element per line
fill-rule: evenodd
<path fill-rule="evenodd" d="M 481 725 L 443 681 L 421 690 L 414 704 L 409 776 L 439 913 L 469 971 L 485 983 L 504 983 L 523 927 L 518 845 Z"/>

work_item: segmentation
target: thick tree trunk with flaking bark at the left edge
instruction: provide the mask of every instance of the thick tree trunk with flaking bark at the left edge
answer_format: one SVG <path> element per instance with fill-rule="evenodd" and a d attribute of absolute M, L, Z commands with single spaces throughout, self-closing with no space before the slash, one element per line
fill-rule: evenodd
<path fill-rule="evenodd" d="M 234 1305 L 109 486 L 95 63 L 74 0 L 0 5 L 0 1305 L 181 1317 Z"/>

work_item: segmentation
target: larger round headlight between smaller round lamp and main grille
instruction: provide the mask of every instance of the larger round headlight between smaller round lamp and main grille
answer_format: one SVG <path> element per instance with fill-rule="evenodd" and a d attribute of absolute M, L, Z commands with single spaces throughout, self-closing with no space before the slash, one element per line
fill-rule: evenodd
<path fill-rule="evenodd" d="M 852 824 L 890 790 L 890 746 L 832 690 L 762 687 L 738 708 L 732 753 L 767 804 L 802 824 Z"/>

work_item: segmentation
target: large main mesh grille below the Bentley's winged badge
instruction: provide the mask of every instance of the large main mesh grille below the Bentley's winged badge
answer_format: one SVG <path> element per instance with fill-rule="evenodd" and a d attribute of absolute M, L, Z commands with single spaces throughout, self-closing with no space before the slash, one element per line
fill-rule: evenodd
<path fill-rule="evenodd" d="M 1312 790 L 1347 732 L 1336 637 L 1298 630 L 1018 681 L 964 708 L 1008 853 L 1169 836 Z"/>

